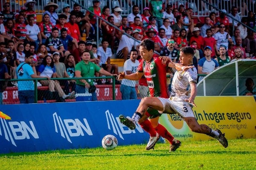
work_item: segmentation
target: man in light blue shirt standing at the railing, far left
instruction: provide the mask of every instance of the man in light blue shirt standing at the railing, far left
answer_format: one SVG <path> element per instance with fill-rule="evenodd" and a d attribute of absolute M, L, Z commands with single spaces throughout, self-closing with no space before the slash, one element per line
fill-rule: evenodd
<path fill-rule="evenodd" d="M 18 79 L 31 79 L 31 78 L 47 78 L 47 76 L 38 76 L 32 69 L 32 63 L 34 61 L 33 54 L 28 53 L 25 56 L 25 61 L 18 65 L 16 73 Z M 33 80 L 18 81 L 18 97 L 21 104 L 34 103 L 35 102 L 35 89 Z"/>

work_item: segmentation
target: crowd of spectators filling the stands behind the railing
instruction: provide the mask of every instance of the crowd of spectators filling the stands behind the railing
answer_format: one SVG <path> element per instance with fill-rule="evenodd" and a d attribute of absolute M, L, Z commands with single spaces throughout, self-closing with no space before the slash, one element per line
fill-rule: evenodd
<path fill-rule="evenodd" d="M 204 21 L 201 21 L 199 17 L 192 15 L 192 8 L 185 8 L 183 4 L 173 8 L 171 4 L 166 5 L 162 0 L 151 0 L 149 6 L 141 11 L 142 14 L 139 6 L 134 5 L 128 16 L 120 15 L 123 10 L 119 6 L 113 9 L 105 6 L 101 9 L 99 0 L 93 0 L 93 6 L 89 8 L 93 14 L 89 11 L 84 14 L 79 4 L 74 3 L 71 11 L 70 5 L 64 4 L 63 13 L 58 15 L 55 12 L 58 4 L 49 2 L 44 6 L 42 20 L 39 21 L 34 10 L 35 3 L 36 1 L 27 0 L 24 3 L 25 7 L 15 14 L 10 11 L 10 3 L 6 2 L 0 13 L 0 57 L 12 79 L 17 78 L 18 65 L 25 61 L 26 55 L 31 54 L 34 60 L 31 66 L 38 76 L 44 71 L 41 65 L 44 65 L 44 68 L 48 68 L 46 66 L 49 65 L 54 77 L 75 77 L 76 64 L 83 62 L 84 51 L 89 51 L 90 62 L 102 67 L 111 75 L 117 74 L 118 66 L 110 62 L 113 54 L 116 58 L 126 61 L 131 51 L 136 49 L 140 59 L 139 43 L 134 39 L 153 40 L 155 51 L 171 57 L 173 62 L 179 62 L 180 48 L 191 46 L 195 50 L 194 65 L 198 68 L 199 74 L 209 74 L 218 66 L 234 59 L 256 56 L 256 33 L 239 22 L 233 22 L 231 17 L 225 15 L 229 13 L 225 9 L 220 11 L 220 16 L 210 12 L 209 17 L 204 17 Z M 247 12 L 248 17 L 241 18 L 238 8 L 233 6 L 229 14 L 250 28 L 256 29 L 256 18 L 252 11 Z M 121 31 L 99 20 L 99 32 L 96 32 L 96 15 Z M 92 43 L 96 40 L 97 34 L 102 37 L 102 44 L 98 49 L 97 45 Z M 83 36 L 86 41 L 82 40 Z M 53 54 L 58 54 L 59 58 Z M 48 60 L 51 60 L 52 64 L 50 61 L 48 63 Z M 205 61 L 214 63 L 214 67 L 210 67 Z M 63 65 L 56 69 L 59 63 Z M 95 76 L 99 74 L 96 73 Z M 52 91 L 56 90 L 64 97 L 76 89 L 75 81 L 45 80 L 42 83 L 50 84 Z M 116 84 L 119 83 L 116 81 Z M 101 85 L 101 79 L 96 79 L 95 84 Z M 111 84 L 111 80 L 106 80 L 105 84 Z M 9 86 L 16 85 L 16 82 L 9 83 Z M 64 91 L 56 89 L 60 85 L 64 86 Z"/>

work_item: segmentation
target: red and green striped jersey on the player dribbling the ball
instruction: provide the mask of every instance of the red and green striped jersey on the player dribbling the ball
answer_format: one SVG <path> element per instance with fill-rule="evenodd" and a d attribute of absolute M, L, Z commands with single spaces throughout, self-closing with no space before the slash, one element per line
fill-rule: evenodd
<path fill-rule="evenodd" d="M 147 62 L 144 59 L 137 68 L 138 72 L 144 72 L 148 83 L 150 97 L 169 98 L 169 90 L 166 85 L 167 64 L 162 64 L 159 55 L 154 54 L 152 59 Z"/>

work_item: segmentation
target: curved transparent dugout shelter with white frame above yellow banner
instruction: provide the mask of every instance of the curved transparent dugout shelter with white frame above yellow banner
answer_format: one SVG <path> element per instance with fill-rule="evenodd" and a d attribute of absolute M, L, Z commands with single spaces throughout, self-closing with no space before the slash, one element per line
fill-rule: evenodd
<path fill-rule="evenodd" d="M 197 96 L 239 96 L 246 89 L 245 80 L 256 86 L 256 59 L 239 59 L 212 71 L 198 82 Z"/>

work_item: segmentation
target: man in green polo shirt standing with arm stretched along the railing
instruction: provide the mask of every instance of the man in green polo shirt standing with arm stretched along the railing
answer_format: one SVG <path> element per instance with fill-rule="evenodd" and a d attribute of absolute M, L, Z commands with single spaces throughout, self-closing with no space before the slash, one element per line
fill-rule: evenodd
<path fill-rule="evenodd" d="M 84 51 L 82 53 L 82 61 L 79 62 L 75 67 L 76 77 L 94 77 L 95 72 L 103 74 L 105 76 L 117 76 L 117 74 L 111 74 L 100 68 L 98 65 L 90 62 L 89 51 Z M 76 93 L 85 93 L 88 91 L 90 86 L 93 85 L 93 79 L 77 79 L 76 80 Z M 96 92 L 92 92 L 92 101 L 97 100 Z"/>

